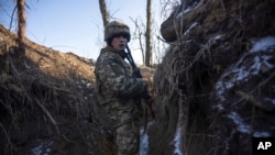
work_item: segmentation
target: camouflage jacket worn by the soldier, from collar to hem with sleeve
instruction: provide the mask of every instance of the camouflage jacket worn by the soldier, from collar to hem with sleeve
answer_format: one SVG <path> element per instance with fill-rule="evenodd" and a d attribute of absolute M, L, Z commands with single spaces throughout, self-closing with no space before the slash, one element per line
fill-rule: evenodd
<path fill-rule="evenodd" d="M 116 123 L 136 118 L 139 108 L 134 101 L 147 90 L 147 82 L 132 77 L 132 68 L 123 59 L 123 53 L 112 47 L 102 48 L 97 59 L 96 92 L 99 103 Z"/>

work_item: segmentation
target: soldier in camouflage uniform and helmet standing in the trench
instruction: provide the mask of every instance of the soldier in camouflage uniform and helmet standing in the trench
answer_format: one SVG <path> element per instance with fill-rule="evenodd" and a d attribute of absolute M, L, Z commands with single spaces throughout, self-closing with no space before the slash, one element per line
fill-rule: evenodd
<path fill-rule="evenodd" d="M 114 122 L 113 131 L 119 155 L 139 155 L 140 110 L 136 99 L 152 101 L 147 81 L 132 76 L 133 70 L 124 60 L 130 41 L 130 29 L 112 21 L 105 27 L 107 46 L 96 63 L 96 92 L 100 106 Z"/>

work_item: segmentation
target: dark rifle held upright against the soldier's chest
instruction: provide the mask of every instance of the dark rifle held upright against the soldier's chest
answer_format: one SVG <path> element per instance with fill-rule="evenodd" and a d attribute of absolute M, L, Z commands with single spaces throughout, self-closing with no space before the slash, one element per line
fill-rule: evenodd
<path fill-rule="evenodd" d="M 141 70 L 136 67 L 136 65 L 135 65 L 135 63 L 134 63 L 134 59 L 133 59 L 133 57 L 132 57 L 131 51 L 130 51 L 130 48 L 129 48 L 128 45 L 127 45 L 127 52 L 125 52 L 125 54 L 127 54 L 127 59 L 129 60 L 129 63 L 130 63 L 131 66 L 132 66 L 132 69 L 133 69 L 133 77 L 134 77 L 134 78 L 143 78 L 142 75 L 141 75 Z M 146 90 L 146 91 L 147 91 L 147 90 Z M 152 96 L 150 95 L 148 91 L 145 93 L 145 96 L 146 96 L 147 98 L 148 98 L 148 97 L 150 97 L 150 98 L 152 97 Z M 152 104 L 147 104 L 147 106 L 148 106 L 148 109 L 150 109 L 150 112 L 151 112 L 153 119 L 155 119 L 155 113 L 154 113 L 154 111 L 153 111 L 153 109 L 152 109 Z"/>

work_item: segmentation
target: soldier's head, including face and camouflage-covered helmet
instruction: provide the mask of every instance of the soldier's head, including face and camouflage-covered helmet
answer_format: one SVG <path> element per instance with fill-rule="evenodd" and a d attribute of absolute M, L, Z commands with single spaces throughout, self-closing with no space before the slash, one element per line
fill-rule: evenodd
<path fill-rule="evenodd" d="M 124 49 L 130 38 L 130 29 L 123 22 L 112 21 L 105 27 L 105 41 L 109 46 L 117 49 Z"/>

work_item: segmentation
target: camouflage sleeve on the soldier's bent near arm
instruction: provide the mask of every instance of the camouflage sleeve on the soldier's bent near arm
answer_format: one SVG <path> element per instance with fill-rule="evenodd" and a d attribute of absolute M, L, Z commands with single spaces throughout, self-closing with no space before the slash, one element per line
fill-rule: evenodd
<path fill-rule="evenodd" d="M 147 82 L 141 78 L 129 77 L 116 59 L 106 59 L 98 75 L 105 86 L 121 97 L 141 97 L 147 90 Z"/>

